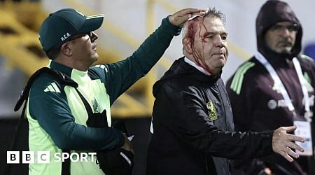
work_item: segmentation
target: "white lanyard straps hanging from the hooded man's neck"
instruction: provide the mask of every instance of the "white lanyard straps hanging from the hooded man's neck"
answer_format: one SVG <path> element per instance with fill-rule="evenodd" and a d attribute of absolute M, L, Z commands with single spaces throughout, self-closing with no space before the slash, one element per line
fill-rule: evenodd
<path fill-rule="evenodd" d="M 288 106 L 288 109 L 293 113 L 293 116 L 296 115 L 295 113 L 295 108 L 290 100 L 290 97 L 288 95 L 288 92 L 286 91 L 286 87 L 284 87 L 282 81 L 280 80 L 278 74 L 276 73 L 276 71 L 274 70 L 274 68 L 272 67 L 272 65 L 267 61 L 267 59 L 265 59 L 265 57 L 260 53 L 260 52 L 256 52 L 255 53 L 255 58 L 258 59 L 258 61 L 265 66 L 265 68 L 267 69 L 267 71 L 269 72 L 270 76 L 272 77 L 272 79 L 274 80 L 274 86 L 277 88 L 277 90 L 280 90 L 284 102 L 286 103 L 286 105 Z M 304 118 L 307 119 L 308 122 L 311 122 L 311 111 L 309 109 L 309 94 L 307 92 L 307 82 L 303 77 L 303 73 L 302 73 L 302 69 L 300 66 L 300 62 L 297 60 L 296 57 L 293 58 L 293 65 L 295 67 L 295 71 L 297 73 L 297 77 L 300 80 L 300 85 L 302 87 L 302 92 L 304 95 L 304 109 L 305 109 L 305 113 L 304 113 Z"/>

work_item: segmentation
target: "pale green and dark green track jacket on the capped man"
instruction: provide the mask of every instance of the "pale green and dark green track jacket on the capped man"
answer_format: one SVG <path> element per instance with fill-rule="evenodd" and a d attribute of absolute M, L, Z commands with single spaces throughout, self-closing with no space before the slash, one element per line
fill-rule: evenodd
<path fill-rule="evenodd" d="M 50 163 L 38 163 L 40 160 L 36 158 L 29 164 L 29 174 L 61 174 L 62 163 L 55 162 L 54 155 L 62 150 L 80 153 L 123 146 L 123 134 L 110 127 L 111 104 L 148 73 L 180 31 L 165 18 L 132 56 L 113 64 L 92 66 L 87 71 L 50 62 L 51 69 L 65 73 L 78 83 L 78 90 L 94 113 L 106 110 L 109 127 L 87 127 L 87 111 L 75 88 L 43 73 L 31 86 L 26 113 L 29 150 L 34 151 L 35 158 L 38 151 L 49 151 Z M 71 174 L 104 174 L 95 160 L 87 160 L 71 162 Z"/>

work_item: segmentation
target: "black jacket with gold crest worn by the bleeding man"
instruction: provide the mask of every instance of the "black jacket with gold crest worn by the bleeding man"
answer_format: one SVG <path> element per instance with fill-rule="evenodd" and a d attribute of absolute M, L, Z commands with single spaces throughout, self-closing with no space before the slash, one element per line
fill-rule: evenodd
<path fill-rule="evenodd" d="M 147 174 L 229 174 L 229 159 L 272 153 L 273 132 L 233 132 L 220 76 L 207 76 L 178 59 L 153 86 L 153 137 Z"/>

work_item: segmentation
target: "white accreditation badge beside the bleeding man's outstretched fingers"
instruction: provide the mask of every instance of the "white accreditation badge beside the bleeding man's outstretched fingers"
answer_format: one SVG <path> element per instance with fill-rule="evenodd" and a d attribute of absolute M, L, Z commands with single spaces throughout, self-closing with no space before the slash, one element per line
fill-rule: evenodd
<path fill-rule="evenodd" d="M 304 143 L 295 141 L 295 144 L 301 146 L 304 149 L 304 152 L 295 150 L 299 155 L 313 155 L 312 146 L 311 146 L 311 124 L 305 121 L 294 121 L 294 124 L 297 126 L 294 134 L 303 137 Z"/>

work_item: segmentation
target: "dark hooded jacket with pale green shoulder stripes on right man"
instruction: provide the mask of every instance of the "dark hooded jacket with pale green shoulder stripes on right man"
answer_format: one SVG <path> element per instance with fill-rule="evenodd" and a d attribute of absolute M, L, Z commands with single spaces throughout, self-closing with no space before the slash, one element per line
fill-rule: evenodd
<path fill-rule="evenodd" d="M 287 54 L 276 53 L 265 43 L 265 33 L 277 22 L 292 22 L 298 27 L 293 49 Z M 293 125 L 294 120 L 305 121 L 304 96 L 292 59 L 297 57 L 303 76 L 307 80 L 311 111 L 314 110 L 315 66 L 313 59 L 300 55 L 302 27 L 299 20 L 287 3 L 267 1 L 260 8 L 256 18 L 256 33 L 258 51 L 272 65 L 281 79 L 291 102 L 293 102 L 297 117 L 293 118 L 293 113 L 288 110 L 282 94 L 274 90 L 274 80 L 265 66 L 260 64 L 255 57 L 251 57 L 239 66 L 226 85 L 235 117 L 235 130 L 259 132 Z M 314 123 L 311 123 L 311 127 L 314 128 Z M 312 135 L 314 141 L 314 133 Z M 259 171 L 263 167 L 269 167 L 273 172 L 279 171 L 280 174 L 303 174 L 307 172 L 307 167 L 310 165 L 300 163 L 307 162 L 305 158 L 299 158 L 293 163 L 289 163 L 280 155 L 272 155 L 255 161 L 252 164 L 253 169 Z M 249 166 L 244 167 L 248 169 Z"/>

